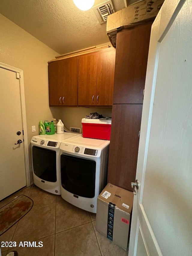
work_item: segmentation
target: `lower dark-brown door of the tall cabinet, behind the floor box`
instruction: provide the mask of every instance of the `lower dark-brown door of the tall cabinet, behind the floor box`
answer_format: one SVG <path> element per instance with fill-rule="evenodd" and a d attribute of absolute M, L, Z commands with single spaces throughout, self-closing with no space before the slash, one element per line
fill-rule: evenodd
<path fill-rule="evenodd" d="M 135 181 L 142 104 L 113 105 L 107 181 L 129 191 Z"/>

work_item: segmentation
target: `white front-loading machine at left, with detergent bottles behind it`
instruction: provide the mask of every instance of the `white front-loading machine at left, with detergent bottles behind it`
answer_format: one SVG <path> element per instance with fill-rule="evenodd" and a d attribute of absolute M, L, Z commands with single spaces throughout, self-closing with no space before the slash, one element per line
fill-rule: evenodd
<path fill-rule="evenodd" d="M 80 134 L 37 135 L 32 137 L 33 179 L 36 186 L 52 194 L 61 194 L 60 144 Z"/>

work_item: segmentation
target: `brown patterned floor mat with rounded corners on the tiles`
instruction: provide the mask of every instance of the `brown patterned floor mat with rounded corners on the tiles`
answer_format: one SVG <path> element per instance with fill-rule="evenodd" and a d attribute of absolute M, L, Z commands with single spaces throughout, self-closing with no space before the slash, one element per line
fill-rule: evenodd
<path fill-rule="evenodd" d="M 20 195 L 0 209 L 0 235 L 6 232 L 33 207 L 33 200 Z"/>

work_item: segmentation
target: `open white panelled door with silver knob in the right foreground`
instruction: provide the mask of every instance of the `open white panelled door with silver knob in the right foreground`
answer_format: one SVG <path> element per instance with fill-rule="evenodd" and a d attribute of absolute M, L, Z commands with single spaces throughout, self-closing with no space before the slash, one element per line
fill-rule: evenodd
<path fill-rule="evenodd" d="M 129 256 L 192 255 L 191 17 L 165 0 L 152 26 Z"/>

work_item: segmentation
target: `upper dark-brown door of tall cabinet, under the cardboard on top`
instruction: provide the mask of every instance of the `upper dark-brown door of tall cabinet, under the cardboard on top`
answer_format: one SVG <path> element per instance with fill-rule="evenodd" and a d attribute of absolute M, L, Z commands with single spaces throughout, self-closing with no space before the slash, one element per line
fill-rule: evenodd
<path fill-rule="evenodd" d="M 151 25 L 117 33 L 113 104 L 143 104 Z"/>

